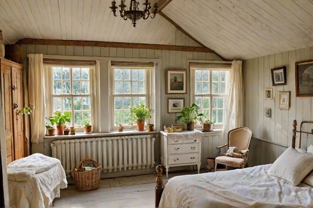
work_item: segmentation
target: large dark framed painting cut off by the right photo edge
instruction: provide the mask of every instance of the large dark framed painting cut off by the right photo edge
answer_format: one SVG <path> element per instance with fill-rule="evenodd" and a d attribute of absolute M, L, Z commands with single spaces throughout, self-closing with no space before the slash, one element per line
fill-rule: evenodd
<path fill-rule="evenodd" d="M 297 97 L 313 96 L 313 60 L 295 63 L 295 93 Z"/>

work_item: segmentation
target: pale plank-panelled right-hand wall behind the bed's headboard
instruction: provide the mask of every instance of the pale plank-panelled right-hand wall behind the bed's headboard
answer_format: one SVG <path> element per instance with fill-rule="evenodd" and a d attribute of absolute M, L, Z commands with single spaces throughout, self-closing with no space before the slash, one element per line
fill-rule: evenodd
<path fill-rule="evenodd" d="M 295 62 L 305 60 L 313 60 L 313 46 L 243 62 L 245 125 L 252 130 L 253 138 L 258 139 L 253 139 L 251 143 L 250 153 L 258 155 L 254 159 L 249 156 L 249 161 L 251 159 L 250 162 L 253 164 L 273 162 L 282 153 L 280 145 L 291 146 L 294 119 L 298 121 L 298 129 L 301 121 L 313 120 L 313 97 L 295 96 Z M 272 86 L 270 69 L 282 66 L 287 68 L 287 85 Z M 266 88 L 273 89 L 273 99 L 265 99 Z M 289 110 L 278 108 L 278 92 L 280 91 L 291 92 Z M 271 117 L 265 116 L 266 108 L 271 108 Z M 306 146 L 306 142 L 302 144 Z M 302 147 L 305 148 L 305 146 Z"/>

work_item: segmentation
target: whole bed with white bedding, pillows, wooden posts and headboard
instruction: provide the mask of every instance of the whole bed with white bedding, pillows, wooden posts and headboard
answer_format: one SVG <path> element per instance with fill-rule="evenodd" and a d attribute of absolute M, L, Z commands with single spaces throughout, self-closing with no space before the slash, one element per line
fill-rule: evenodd
<path fill-rule="evenodd" d="M 158 208 L 313 208 L 313 154 L 292 146 L 273 164 L 244 169 L 176 176 L 162 187 L 162 167 L 156 179 Z M 299 142 L 300 143 L 300 142 Z M 301 146 L 301 143 L 299 144 Z M 313 152 L 313 146 L 311 151 Z M 159 202 L 158 202 L 159 200 Z"/>

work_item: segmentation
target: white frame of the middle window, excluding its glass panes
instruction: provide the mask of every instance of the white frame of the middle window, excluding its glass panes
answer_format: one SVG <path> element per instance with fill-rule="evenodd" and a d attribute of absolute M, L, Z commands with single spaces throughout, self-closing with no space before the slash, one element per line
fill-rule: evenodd
<path fill-rule="evenodd" d="M 114 69 L 145 69 L 145 93 L 144 94 L 114 94 Z M 110 126 L 111 126 L 111 130 L 117 130 L 118 129 L 118 125 L 115 125 L 114 124 L 114 98 L 115 97 L 123 97 L 123 96 L 130 96 L 130 97 L 135 97 L 135 96 L 140 96 L 140 97 L 146 97 L 146 105 L 149 107 L 149 108 L 152 108 L 155 112 L 155 97 L 154 95 L 156 94 L 155 93 L 155 90 L 154 90 L 154 83 L 155 83 L 155 76 L 154 76 L 154 72 L 155 72 L 155 67 L 154 68 L 147 68 L 147 67 L 127 67 L 127 66 L 111 66 L 111 63 L 110 63 L 110 66 L 109 66 L 109 71 L 110 71 L 110 77 L 111 77 L 111 97 L 112 97 L 112 101 L 111 101 L 111 119 L 110 119 Z M 156 122 L 156 119 L 155 119 L 155 113 L 152 114 L 151 118 L 147 119 L 148 122 L 147 123 L 155 123 Z M 146 120 L 146 121 L 147 121 Z M 146 123 L 146 124 L 147 124 Z M 133 123 L 133 125 L 124 125 L 124 129 L 135 129 L 136 128 L 136 124 Z"/>

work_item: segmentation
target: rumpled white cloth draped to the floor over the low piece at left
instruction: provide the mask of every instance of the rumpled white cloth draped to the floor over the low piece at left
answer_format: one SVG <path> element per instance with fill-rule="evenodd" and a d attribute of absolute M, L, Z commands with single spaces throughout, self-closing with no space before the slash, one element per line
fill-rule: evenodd
<path fill-rule="evenodd" d="M 7 173 L 12 208 L 50 207 L 67 187 L 61 162 L 39 153 L 11 162 Z"/>

